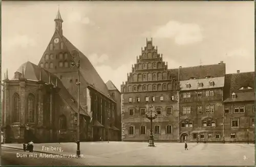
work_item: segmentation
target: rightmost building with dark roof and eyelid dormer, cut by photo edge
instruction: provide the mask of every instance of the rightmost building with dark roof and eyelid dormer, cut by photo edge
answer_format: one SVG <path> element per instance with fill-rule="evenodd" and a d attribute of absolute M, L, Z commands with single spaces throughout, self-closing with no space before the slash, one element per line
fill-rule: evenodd
<path fill-rule="evenodd" d="M 224 87 L 224 133 L 226 142 L 253 142 L 255 73 L 226 74 Z M 247 138 L 248 137 L 248 138 Z"/>

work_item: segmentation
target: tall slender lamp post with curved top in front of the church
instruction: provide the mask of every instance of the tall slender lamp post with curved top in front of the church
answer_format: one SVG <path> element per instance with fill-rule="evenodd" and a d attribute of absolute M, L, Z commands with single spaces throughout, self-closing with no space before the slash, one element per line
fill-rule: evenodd
<path fill-rule="evenodd" d="M 78 87 L 78 92 L 77 92 L 77 130 L 76 130 L 76 144 L 77 144 L 77 150 L 76 150 L 76 156 L 80 157 L 80 98 L 79 98 L 79 94 L 80 94 L 80 57 L 79 57 L 79 53 L 76 50 L 71 50 L 71 55 L 73 57 L 73 59 L 78 58 L 78 63 L 77 65 L 77 72 L 78 72 L 78 79 L 77 79 L 77 87 Z M 72 66 L 75 66 L 75 63 L 73 62 L 71 64 Z"/>

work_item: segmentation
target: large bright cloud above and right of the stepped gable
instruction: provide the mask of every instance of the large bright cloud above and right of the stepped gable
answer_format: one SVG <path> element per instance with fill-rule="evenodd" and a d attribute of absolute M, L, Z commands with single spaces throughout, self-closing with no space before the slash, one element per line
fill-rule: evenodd
<path fill-rule="evenodd" d="M 180 23 L 169 21 L 165 25 L 159 26 L 153 32 L 146 32 L 144 35 L 154 38 L 173 38 L 179 45 L 186 45 L 203 40 L 202 28 L 195 23 Z"/>

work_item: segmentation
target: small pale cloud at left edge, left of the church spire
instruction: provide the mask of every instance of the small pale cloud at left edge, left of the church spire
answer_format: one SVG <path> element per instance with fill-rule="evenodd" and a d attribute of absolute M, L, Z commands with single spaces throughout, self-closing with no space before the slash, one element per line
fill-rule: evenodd
<path fill-rule="evenodd" d="M 18 35 L 8 39 L 7 42 L 3 43 L 3 49 L 9 50 L 17 46 L 22 48 L 27 48 L 35 45 L 36 45 L 36 41 L 33 38 L 30 38 L 27 35 Z"/>

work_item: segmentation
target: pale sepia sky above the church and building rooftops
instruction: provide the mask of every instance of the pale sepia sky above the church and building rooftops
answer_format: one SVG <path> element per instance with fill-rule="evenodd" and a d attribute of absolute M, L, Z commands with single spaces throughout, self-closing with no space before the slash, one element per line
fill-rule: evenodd
<path fill-rule="evenodd" d="M 168 68 L 254 71 L 254 2 L 2 2 L 2 78 L 38 64 L 60 10 L 63 35 L 120 90 L 146 38 Z"/>

